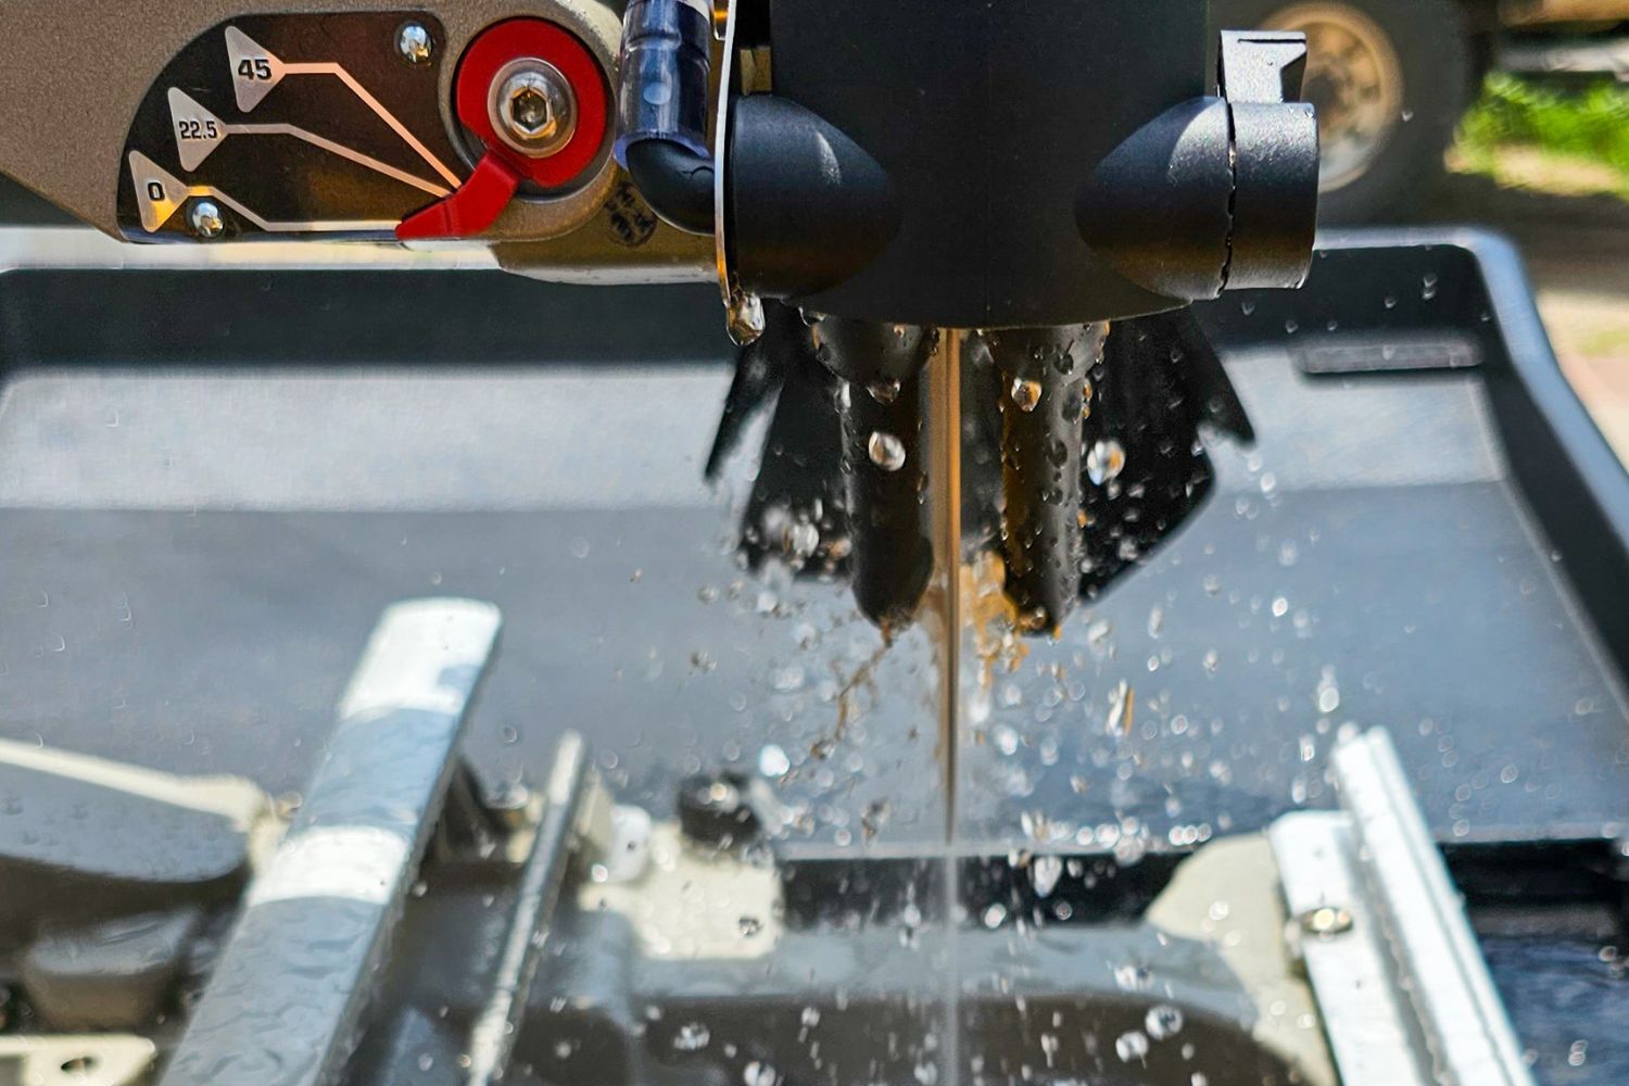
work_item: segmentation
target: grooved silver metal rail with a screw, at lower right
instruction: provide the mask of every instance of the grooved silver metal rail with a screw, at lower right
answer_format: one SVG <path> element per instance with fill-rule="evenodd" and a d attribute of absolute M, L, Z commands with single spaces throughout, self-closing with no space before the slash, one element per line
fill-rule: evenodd
<path fill-rule="evenodd" d="M 1333 759 L 1344 811 L 1269 829 L 1344 1086 L 1531 1086 L 1383 729 Z"/>

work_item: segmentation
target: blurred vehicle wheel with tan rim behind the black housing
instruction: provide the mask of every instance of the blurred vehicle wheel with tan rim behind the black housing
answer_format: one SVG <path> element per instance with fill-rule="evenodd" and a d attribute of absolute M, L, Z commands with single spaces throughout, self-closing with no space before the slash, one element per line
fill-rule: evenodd
<path fill-rule="evenodd" d="M 1305 31 L 1323 138 L 1319 220 L 1412 218 L 1471 101 L 1456 0 L 1217 0 L 1223 29 Z"/>

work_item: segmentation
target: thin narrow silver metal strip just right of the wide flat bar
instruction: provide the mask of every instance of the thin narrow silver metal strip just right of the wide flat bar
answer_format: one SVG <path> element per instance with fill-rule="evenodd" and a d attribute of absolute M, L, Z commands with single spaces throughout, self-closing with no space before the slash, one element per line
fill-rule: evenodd
<path fill-rule="evenodd" d="M 560 897 L 560 881 L 572 855 L 572 835 L 588 791 L 588 752 L 582 736 L 565 733 L 554 754 L 538 837 L 515 887 L 515 913 L 503 935 L 503 949 L 492 995 L 469 1031 L 469 1086 L 500 1081 L 526 1013 L 526 995 L 538 975 L 551 917 Z"/>

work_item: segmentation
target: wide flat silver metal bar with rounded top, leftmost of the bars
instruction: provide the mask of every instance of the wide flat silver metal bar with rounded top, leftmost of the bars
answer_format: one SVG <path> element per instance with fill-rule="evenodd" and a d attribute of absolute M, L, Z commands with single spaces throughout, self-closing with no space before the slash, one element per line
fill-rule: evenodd
<path fill-rule="evenodd" d="M 471 599 L 384 612 L 163 1086 L 339 1081 L 500 625 L 497 607 Z"/>

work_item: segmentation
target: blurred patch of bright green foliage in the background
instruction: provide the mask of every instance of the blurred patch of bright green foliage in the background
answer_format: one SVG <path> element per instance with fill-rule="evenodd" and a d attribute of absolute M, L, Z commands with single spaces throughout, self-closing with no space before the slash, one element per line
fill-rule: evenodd
<path fill-rule="evenodd" d="M 1495 72 L 1461 124 L 1460 147 L 1474 161 L 1512 143 L 1605 163 L 1629 184 L 1629 90 L 1567 93 Z"/>

